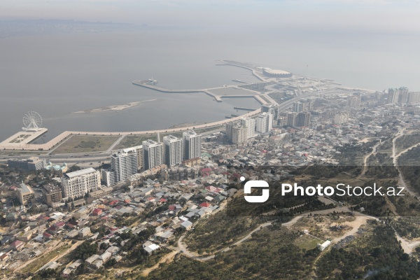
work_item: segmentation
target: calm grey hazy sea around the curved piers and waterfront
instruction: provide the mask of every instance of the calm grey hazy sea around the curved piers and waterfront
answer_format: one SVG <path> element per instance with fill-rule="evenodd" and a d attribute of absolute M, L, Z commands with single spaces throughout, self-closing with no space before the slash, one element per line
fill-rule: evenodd
<path fill-rule="evenodd" d="M 48 141 L 66 130 L 123 132 L 209 123 L 258 108 L 253 98 L 215 102 L 204 93 L 163 93 L 132 85 L 158 80 L 168 89 L 256 82 L 230 59 L 370 90 L 420 91 L 420 37 L 386 32 L 131 28 L 0 38 L 0 141 L 36 111 Z M 123 111 L 74 113 L 144 102 Z"/>

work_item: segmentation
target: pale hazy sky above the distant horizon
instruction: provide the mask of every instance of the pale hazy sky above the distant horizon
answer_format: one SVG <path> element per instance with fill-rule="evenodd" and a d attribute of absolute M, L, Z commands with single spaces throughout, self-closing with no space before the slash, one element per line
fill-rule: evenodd
<path fill-rule="evenodd" d="M 420 0 L 1 0 L 0 20 L 419 32 Z"/>

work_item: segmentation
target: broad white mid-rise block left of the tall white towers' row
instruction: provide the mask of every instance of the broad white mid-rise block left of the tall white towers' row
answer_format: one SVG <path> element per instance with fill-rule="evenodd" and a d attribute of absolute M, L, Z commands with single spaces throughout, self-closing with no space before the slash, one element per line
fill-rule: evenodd
<path fill-rule="evenodd" d="M 69 172 L 62 176 L 64 197 L 83 197 L 101 188 L 101 174 L 92 167 Z"/>

